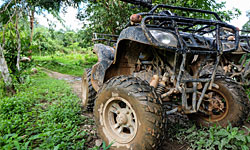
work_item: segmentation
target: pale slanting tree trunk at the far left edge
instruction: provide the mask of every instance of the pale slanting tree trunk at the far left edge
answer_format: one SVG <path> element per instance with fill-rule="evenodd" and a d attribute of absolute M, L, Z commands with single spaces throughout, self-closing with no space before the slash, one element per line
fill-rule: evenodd
<path fill-rule="evenodd" d="M 0 72 L 3 77 L 7 92 L 14 94 L 15 91 L 13 89 L 12 79 L 9 73 L 8 65 L 4 58 L 3 48 L 1 45 L 0 45 Z"/>

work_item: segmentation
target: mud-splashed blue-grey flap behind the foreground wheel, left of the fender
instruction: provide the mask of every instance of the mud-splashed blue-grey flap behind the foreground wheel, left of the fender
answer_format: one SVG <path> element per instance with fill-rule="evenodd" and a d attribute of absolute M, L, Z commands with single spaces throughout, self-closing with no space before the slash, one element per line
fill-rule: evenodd
<path fill-rule="evenodd" d="M 98 62 L 92 67 L 91 83 L 98 91 L 103 85 L 106 70 L 113 63 L 115 49 L 104 44 L 95 44 L 93 51 L 98 56 Z"/>

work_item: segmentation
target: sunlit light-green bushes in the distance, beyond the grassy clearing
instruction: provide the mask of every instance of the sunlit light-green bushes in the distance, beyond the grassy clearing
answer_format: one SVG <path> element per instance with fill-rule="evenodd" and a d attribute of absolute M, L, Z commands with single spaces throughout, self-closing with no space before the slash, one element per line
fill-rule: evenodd
<path fill-rule="evenodd" d="M 90 36 L 91 38 L 91 36 Z M 45 56 L 56 52 L 62 53 L 84 53 L 90 43 L 85 43 L 85 36 L 82 30 L 55 31 L 42 26 L 35 28 L 32 41 L 33 54 Z M 92 43 L 91 43 L 92 44 Z"/>

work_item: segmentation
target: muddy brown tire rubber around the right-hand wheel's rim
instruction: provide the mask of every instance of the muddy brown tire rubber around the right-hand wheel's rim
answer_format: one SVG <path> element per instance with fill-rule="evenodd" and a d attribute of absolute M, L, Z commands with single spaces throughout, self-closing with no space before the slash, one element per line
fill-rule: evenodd
<path fill-rule="evenodd" d="M 215 84 L 219 86 L 219 89 L 213 89 L 221 92 L 228 101 L 227 113 L 218 121 L 205 119 L 201 112 L 188 115 L 189 119 L 195 121 L 197 125 L 207 127 L 214 124 L 225 127 L 229 125 L 229 123 L 231 123 L 232 126 L 242 125 L 250 109 L 249 99 L 244 92 L 244 88 L 229 78 L 215 79 Z"/>

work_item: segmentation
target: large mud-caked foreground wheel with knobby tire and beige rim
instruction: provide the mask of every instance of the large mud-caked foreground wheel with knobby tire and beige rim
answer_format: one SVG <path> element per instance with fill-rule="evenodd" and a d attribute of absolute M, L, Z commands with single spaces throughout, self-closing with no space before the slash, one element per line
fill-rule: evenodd
<path fill-rule="evenodd" d="M 99 90 L 95 101 L 94 118 L 98 135 L 106 145 L 112 144 L 111 149 L 158 149 L 164 139 L 166 120 L 161 103 L 153 87 L 140 78 L 118 76 L 110 79 Z M 118 109 L 113 110 L 113 105 Z M 125 123 L 118 120 L 126 115 L 123 110 L 130 111 L 124 119 Z M 129 121 L 131 116 L 133 121 Z M 126 126 L 130 126 L 128 122 L 133 122 L 133 127 L 127 129 L 131 132 L 124 131 Z M 119 125 L 118 131 L 121 128 L 121 134 L 115 128 L 116 124 Z"/>

